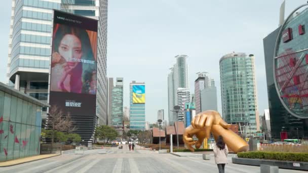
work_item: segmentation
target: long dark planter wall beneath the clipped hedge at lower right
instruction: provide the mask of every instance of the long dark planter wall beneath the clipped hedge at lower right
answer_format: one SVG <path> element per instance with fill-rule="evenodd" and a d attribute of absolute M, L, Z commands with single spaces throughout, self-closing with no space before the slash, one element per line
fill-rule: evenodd
<path fill-rule="evenodd" d="M 298 162 L 298 161 L 281 161 L 281 160 L 232 157 L 232 163 L 246 164 L 253 166 L 260 166 L 261 164 L 264 164 L 264 165 L 278 166 L 279 168 L 283 169 L 308 170 L 308 162 Z"/>

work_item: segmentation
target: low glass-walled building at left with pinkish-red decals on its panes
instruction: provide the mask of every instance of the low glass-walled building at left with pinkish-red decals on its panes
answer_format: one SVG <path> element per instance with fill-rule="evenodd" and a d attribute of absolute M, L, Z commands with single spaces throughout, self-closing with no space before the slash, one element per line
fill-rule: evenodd
<path fill-rule="evenodd" d="M 40 154 L 42 107 L 0 82 L 0 161 Z"/>

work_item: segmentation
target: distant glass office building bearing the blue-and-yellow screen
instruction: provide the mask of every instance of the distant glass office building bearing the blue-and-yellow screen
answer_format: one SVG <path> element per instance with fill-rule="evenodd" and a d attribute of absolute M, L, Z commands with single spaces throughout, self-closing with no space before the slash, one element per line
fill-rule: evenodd
<path fill-rule="evenodd" d="M 134 92 L 133 88 L 135 85 L 145 86 L 144 82 L 136 82 L 132 81 L 130 83 L 130 113 L 129 113 L 129 121 L 130 121 L 130 129 L 138 129 L 145 130 L 145 100 L 144 103 L 134 103 Z M 144 93 L 145 95 L 145 93 Z"/>

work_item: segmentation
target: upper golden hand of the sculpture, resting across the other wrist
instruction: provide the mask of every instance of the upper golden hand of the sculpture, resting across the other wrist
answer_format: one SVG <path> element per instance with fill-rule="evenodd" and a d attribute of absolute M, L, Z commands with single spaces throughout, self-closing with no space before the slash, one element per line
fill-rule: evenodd
<path fill-rule="evenodd" d="M 205 137 L 210 138 L 212 125 L 219 124 L 224 128 L 230 128 L 231 124 L 226 123 L 217 111 L 207 110 L 196 115 L 191 121 L 191 126 L 203 129 Z"/>

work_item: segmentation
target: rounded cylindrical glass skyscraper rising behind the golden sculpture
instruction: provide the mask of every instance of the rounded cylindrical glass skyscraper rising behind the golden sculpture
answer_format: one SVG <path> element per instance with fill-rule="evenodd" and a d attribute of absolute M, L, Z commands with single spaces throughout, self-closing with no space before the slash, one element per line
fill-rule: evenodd
<path fill-rule="evenodd" d="M 220 61 L 222 116 L 228 123 L 250 126 L 259 131 L 254 56 L 232 53 Z"/>

